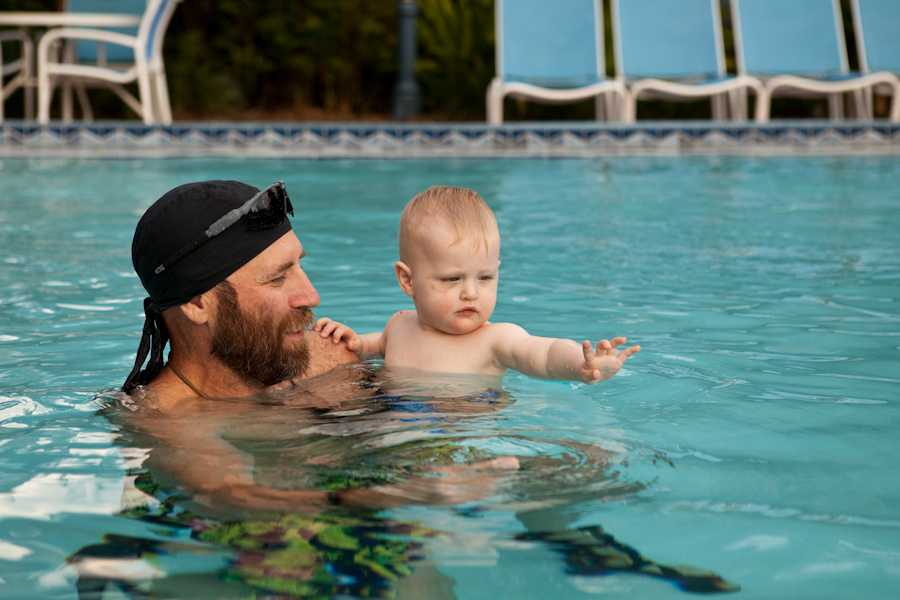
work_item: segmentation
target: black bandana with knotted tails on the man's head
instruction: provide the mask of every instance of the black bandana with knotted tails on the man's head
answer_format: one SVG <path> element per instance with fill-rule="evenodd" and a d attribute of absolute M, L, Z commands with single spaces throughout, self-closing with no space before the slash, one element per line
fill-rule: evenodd
<path fill-rule="evenodd" d="M 134 232 L 131 260 L 150 298 L 144 302 L 147 322 L 134 369 L 123 386 L 126 392 L 149 383 L 162 368 L 168 340 L 160 314 L 163 310 L 208 292 L 291 230 L 285 218 L 278 227 L 252 231 L 244 217 L 161 273 L 155 272 L 185 244 L 258 191 L 237 181 L 188 183 L 157 200 L 141 217 Z M 151 361 L 141 372 L 148 353 Z"/>

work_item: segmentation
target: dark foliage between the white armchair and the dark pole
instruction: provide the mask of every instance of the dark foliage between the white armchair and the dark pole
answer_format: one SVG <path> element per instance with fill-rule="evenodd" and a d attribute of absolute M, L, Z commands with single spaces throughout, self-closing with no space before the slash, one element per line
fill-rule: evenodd
<path fill-rule="evenodd" d="M 172 102 L 201 113 L 386 112 L 396 22 L 386 0 L 189 0 L 166 39 Z"/>

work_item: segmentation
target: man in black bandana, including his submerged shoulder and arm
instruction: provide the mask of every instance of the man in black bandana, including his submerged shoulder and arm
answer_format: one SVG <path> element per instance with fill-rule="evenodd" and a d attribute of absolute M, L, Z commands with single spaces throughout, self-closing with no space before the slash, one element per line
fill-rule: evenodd
<path fill-rule="evenodd" d="M 298 407 L 321 409 L 374 392 L 357 385 L 357 369 L 335 369 L 357 362 L 356 354 L 307 329 L 319 296 L 300 267 L 305 252 L 288 213 L 293 207 L 281 181 L 261 192 L 235 181 L 205 181 L 168 192 L 138 223 L 132 260 L 150 297 L 123 386 L 131 410 L 121 418 L 126 430 L 150 434 L 144 466 L 201 504 L 219 507 L 292 510 L 329 502 L 390 505 L 398 498 L 427 504 L 487 493 L 494 478 L 486 471 L 515 469 L 515 459 L 443 469 L 444 477 L 413 478 L 405 486 L 329 494 L 259 485 L 253 457 L 225 440 L 271 439 L 285 414 L 299 418 Z M 328 371 L 335 377 L 316 377 Z M 297 394 L 278 396 L 290 404 L 283 411 L 252 398 L 214 400 L 294 382 L 301 384 Z"/>

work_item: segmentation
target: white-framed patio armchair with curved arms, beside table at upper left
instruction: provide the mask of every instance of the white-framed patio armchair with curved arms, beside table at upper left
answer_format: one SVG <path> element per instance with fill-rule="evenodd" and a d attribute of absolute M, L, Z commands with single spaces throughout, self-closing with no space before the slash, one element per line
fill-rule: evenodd
<path fill-rule="evenodd" d="M 50 122 L 50 102 L 56 85 L 71 84 L 78 90 L 78 84 L 83 84 L 111 89 L 148 125 L 156 122 L 170 124 L 172 111 L 162 59 L 162 42 L 172 13 L 180 1 L 149 0 L 137 35 L 75 28 L 51 29 L 44 34 L 38 44 L 38 122 Z M 103 45 L 97 45 L 95 64 L 82 64 L 75 60 L 74 44 L 66 44 L 63 60 L 58 60 L 58 45 L 62 41 L 93 41 Z M 113 51 L 113 46 L 120 46 L 122 49 Z M 121 50 L 133 54 L 131 62 L 110 63 L 107 60 L 111 52 Z M 135 82 L 140 100 L 123 87 L 124 84 Z M 80 96 L 81 94 L 83 91 L 79 92 Z M 89 107 L 86 97 L 81 99 L 82 107 Z M 86 120 L 91 118 L 88 111 L 89 109 L 85 111 Z M 63 116 L 67 117 L 65 111 Z M 71 118 L 70 115 L 68 117 Z"/>

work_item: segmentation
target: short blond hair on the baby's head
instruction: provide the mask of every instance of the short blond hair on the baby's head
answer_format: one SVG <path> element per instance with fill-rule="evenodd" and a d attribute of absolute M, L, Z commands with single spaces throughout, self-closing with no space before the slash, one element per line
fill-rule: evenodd
<path fill-rule="evenodd" d="M 446 218 L 456 229 L 458 244 L 472 239 L 477 248 L 488 247 L 497 234 L 497 219 L 477 192 L 462 187 L 433 185 L 416 194 L 400 214 L 400 260 L 409 263 L 422 243 L 422 227 L 435 217 Z"/>

